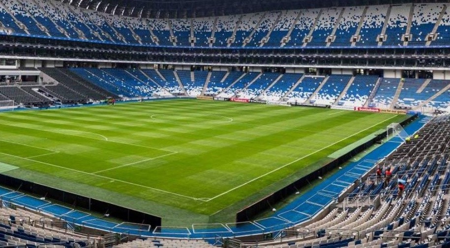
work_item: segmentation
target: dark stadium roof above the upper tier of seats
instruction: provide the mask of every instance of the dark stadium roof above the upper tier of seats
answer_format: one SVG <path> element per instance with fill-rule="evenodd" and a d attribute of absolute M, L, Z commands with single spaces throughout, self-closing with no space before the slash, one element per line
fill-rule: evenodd
<path fill-rule="evenodd" d="M 436 0 L 61 0 L 115 15 L 147 18 L 191 18 L 270 10 L 375 5 Z"/>

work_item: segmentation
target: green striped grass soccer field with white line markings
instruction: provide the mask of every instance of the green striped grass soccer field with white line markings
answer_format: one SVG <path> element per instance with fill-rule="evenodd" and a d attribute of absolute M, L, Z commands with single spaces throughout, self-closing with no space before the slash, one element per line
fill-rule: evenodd
<path fill-rule="evenodd" d="M 406 116 L 194 99 L 0 114 L 4 172 L 163 217 L 235 213 Z"/>

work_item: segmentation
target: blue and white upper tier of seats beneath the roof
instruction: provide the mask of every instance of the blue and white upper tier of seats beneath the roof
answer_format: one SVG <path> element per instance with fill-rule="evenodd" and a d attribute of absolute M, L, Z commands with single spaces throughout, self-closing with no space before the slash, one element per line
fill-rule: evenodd
<path fill-rule="evenodd" d="M 2 0 L 2 3 L 0 27 L 9 28 L 11 31 L 2 31 L 12 32 L 12 35 L 30 34 L 147 46 L 244 47 L 245 43 L 247 48 L 303 47 L 304 38 L 309 34 L 311 40 L 306 43 L 308 47 L 351 47 L 351 38 L 359 35 L 356 46 L 365 47 L 379 45 L 377 37 L 386 25 L 386 40 L 381 45 L 426 46 L 428 34 L 439 23 L 437 39 L 431 45 L 450 42 L 450 35 L 447 35 L 450 30 L 450 12 L 447 9 L 440 20 L 444 7 L 442 3 L 415 4 L 411 20 L 408 20 L 413 6 L 411 4 L 268 11 L 187 19 L 146 19 L 81 9 L 56 0 Z M 402 36 L 407 32 L 409 23 L 412 38 L 404 43 Z M 361 28 L 358 29 L 360 24 Z M 171 31 L 174 37 L 171 37 Z M 332 34 L 334 40 L 329 42 L 327 38 Z M 286 43 L 284 37 L 287 37 Z M 263 39 L 265 42 L 262 42 Z"/>

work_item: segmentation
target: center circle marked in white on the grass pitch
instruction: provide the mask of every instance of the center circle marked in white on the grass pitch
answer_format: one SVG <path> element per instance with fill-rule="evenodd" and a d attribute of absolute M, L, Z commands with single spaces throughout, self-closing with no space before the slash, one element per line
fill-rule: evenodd
<path fill-rule="evenodd" d="M 221 115 L 209 115 L 209 114 L 156 114 L 150 116 L 150 118 L 155 121 L 185 123 L 185 124 L 197 124 L 197 123 L 222 124 L 222 123 L 230 123 L 233 121 L 233 119 L 230 117 Z"/>

